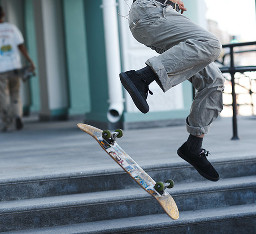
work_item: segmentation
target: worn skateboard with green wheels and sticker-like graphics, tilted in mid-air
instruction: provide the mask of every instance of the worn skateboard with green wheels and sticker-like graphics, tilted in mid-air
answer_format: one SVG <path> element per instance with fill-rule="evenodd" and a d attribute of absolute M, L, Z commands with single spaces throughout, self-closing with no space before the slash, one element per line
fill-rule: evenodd
<path fill-rule="evenodd" d="M 155 182 L 123 149 L 117 144 L 117 138 L 123 136 L 123 131 L 117 129 L 115 132 L 109 130 L 102 131 L 99 128 L 93 126 L 78 123 L 77 126 L 88 133 L 100 144 L 113 160 L 120 165 L 125 172 L 133 178 L 145 191 L 152 195 L 172 219 L 179 218 L 178 207 L 171 197 L 171 195 L 165 190 L 166 188 L 172 188 L 174 181 L 167 180 L 164 182 Z"/>

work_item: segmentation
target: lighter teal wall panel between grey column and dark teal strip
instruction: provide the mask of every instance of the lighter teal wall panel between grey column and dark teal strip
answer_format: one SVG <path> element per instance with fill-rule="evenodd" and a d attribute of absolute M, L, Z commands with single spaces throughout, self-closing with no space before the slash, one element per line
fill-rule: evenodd
<path fill-rule="evenodd" d="M 63 0 L 69 84 L 69 114 L 91 111 L 89 65 L 83 0 Z"/>

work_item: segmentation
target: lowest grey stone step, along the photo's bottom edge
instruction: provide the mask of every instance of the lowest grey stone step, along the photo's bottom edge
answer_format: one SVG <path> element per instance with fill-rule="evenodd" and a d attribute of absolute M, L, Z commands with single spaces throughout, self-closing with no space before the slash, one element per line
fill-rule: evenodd
<path fill-rule="evenodd" d="M 5 234 L 254 234 L 255 230 L 256 205 L 247 204 L 184 211 L 178 220 L 155 214 Z"/>

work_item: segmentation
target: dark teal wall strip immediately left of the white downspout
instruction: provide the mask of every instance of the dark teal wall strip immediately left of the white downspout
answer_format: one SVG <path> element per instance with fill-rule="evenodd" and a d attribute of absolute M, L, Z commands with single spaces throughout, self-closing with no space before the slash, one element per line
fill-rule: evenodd
<path fill-rule="evenodd" d="M 86 119 L 107 122 L 108 86 L 101 1 L 84 0 L 91 112 Z"/>

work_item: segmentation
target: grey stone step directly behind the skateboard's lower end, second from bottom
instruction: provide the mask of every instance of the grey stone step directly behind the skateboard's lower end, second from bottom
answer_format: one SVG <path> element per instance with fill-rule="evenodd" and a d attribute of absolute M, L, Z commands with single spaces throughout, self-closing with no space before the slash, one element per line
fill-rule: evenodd
<path fill-rule="evenodd" d="M 256 176 L 227 178 L 218 183 L 176 183 L 168 190 L 182 211 L 256 203 Z M 0 231 L 37 229 L 64 224 L 162 214 L 143 189 L 123 189 L 0 202 Z M 15 224 L 14 224 L 15 223 Z"/>

